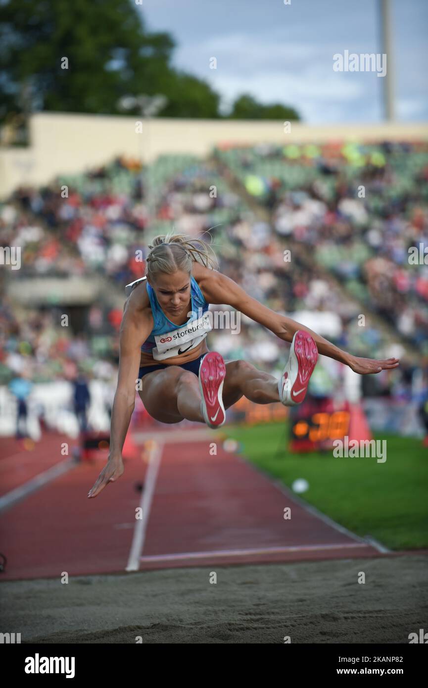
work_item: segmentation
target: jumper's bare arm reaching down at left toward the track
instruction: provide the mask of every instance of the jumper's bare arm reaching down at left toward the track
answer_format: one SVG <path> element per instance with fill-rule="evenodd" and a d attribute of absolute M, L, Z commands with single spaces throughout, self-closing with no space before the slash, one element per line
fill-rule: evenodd
<path fill-rule="evenodd" d="M 123 473 L 122 447 L 136 402 L 136 381 L 141 345 L 153 329 L 153 317 L 142 290 L 136 289 L 125 303 L 119 338 L 118 385 L 111 409 L 109 459 L 88 497 L 96 497 L 109 482 Z"/>

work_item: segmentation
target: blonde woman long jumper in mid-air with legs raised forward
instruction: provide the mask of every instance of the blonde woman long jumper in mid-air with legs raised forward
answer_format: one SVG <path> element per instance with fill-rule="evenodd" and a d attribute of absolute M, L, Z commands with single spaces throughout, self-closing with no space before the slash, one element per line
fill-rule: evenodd
<path fill-rule="evenodd" d="M 88 497 L 96 497 L 123 473 L 122 447 L 136 389 L 156 420 L 178 423 L 187 418 L 215 428 L 242 396 L 256 404 L 300 404 L 318 353 L 361 375 L 398 366 L 397 358 L 376 361 L 347 354 L 308 327 L 266 308 L 214 269 L 206 244 L 198 239 L 162 235 L 149 248 L 145 277 L 126 289 L 109 459 Z M 248 361 L 224 361 L 219 353 L 209 352 L 210 303 L 229 305 L 291 343 L 279 380 Z"/>

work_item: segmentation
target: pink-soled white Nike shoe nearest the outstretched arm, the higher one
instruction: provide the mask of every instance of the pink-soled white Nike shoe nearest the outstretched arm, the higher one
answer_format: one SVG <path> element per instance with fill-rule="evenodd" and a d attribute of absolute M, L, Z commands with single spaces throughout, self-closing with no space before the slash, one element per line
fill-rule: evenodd
<path fill-rule="evenodd" d="M 309 332 L 297 330 L 292 338 L 290 358 L 278 381 L 279 400 L 284 406 L 301 404 L 317 361 L 317 345 Z"/>

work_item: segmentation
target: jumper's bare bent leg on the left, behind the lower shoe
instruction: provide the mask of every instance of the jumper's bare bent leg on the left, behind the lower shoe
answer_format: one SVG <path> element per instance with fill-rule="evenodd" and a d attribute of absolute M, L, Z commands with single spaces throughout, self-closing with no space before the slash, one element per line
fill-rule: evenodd
<path fill-rule="evenodd" d="M 186 418 L 204 422 L 199 380 L 178 365 L 147 373 L 141 378 L 140 398 L 152 418 L 179 423 Z"/>

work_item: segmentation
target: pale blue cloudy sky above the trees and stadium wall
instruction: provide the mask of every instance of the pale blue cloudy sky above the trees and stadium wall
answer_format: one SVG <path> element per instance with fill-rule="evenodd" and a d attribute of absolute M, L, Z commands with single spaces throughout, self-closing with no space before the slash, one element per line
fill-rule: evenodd
<path fill-rule="evenodd" d="M 428 0 L 392 3 L 396 119 L 428 120 Z M 224 111 L 248 93 L 296 107 L 303 120 L 382 119 L 384 78 L 334 72 L 333 55 L 381 53 L 379 0 L 142 0 L 151 31 L 169 32 L 173 65 L 204 78 Z M 210 58 L 217 69 L 210 69 Z"/>

